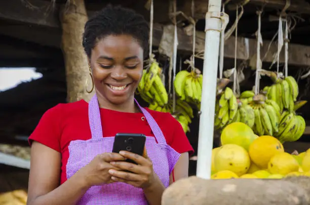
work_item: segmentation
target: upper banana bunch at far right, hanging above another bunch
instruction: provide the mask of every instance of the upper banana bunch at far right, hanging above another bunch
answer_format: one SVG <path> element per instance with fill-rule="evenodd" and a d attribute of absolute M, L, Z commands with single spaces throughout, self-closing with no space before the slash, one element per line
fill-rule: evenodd
<path fill-rule="evenodd" d="M 283 109 L 289 112 L 294 111 L 294 102 L 298 96 L 298 84 L 292 76 L 277 79 L 275 84 L 265 87 L 264 90 L 269 99 L 277 102 L 281 112 Z"/>

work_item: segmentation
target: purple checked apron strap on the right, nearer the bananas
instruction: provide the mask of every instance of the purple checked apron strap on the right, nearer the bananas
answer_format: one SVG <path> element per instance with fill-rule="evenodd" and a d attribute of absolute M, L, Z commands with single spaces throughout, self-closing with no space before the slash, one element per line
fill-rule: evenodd
<path fill-rule="evenodd" d="M 135 102 L 138 105 L 141 112 L 143 113 L 143 115 L 144 115 L 148 125 L 150 126 L 150 128 L 151 128 L 156 140 L 158 141 L 158 143 L 167 144 L 166 138 L 165 138 L 161 128 L 158 126 L 157 122 L 154 120 L 154 118 L 151 116 L 151 114 L 149 114 L 149 112 L 147 112 L 144 108 L 142 108 L 136 99 L 135 99 Z"/>

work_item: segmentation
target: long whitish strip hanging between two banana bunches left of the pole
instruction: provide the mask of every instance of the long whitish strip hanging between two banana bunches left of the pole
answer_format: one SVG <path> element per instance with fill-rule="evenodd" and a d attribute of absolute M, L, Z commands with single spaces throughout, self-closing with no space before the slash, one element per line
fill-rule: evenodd
<path fill-rule="evenodd" d="M 173 13 L 176 14 L 177 6 L 176 6 L 176 0 L 173 2 Z M 178 46 L 178 33 L 177 33 L 177 22 L 176 22 L 176 15 L 174 16 L 174 38 L 173 38 L 173 81 L 175 79 L 176 75 L 176 61 L 177 61 L 177 46 Z M 171 60 L 171 59 L 170 59 Z M 171 83 L 171 79 L 169 79 L 169 82 Z M 169 84 L 169 88 L 171 87 L 171 84 Z M 173 88 L 172 91 L 172 111 L 175 112 L 175 90 Z"/>

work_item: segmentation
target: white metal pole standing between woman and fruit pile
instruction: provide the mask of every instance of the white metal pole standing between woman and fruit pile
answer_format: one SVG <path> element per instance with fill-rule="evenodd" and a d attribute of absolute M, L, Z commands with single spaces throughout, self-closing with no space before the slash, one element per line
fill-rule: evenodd
<path fill-rule="evenodd" d="M 213 147 L 214 113 L 220 33 L 222 27 L 221 0 L 209 0 L 206 14 L 206 38 L 203 68 L 201 115 L 198 139 L 198 177 L 210 179 Z"/>

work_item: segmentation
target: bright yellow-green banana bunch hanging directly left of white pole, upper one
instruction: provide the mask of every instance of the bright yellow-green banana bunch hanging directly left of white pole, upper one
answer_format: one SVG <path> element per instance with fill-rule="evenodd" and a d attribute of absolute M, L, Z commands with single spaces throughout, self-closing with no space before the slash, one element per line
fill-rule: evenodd
<path fill-rule="evenodd" d="M 181 100 L 200 104 L 202 94 L 202 74 L 193 71 L 180 71 L 173 81 L 176 94 Z"/>

